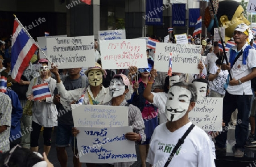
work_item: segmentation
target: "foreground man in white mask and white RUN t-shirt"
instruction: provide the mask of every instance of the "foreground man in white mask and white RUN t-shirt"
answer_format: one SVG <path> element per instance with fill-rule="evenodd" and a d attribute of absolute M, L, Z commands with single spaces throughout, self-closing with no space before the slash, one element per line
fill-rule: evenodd
<path fill-rule="evenodd" d="M 166 123 L 156 127 L 151 137 L 147 161 L 151 166 L 164 166 L 172 150 L 192 123 L 188 113 L 197 101 L 197 90 L 193 84 L 175 83 L 167 95 Z M 195 126 L 180 145 L 168 166 L 211 167 L 214 164 L 212 140 Z"/>

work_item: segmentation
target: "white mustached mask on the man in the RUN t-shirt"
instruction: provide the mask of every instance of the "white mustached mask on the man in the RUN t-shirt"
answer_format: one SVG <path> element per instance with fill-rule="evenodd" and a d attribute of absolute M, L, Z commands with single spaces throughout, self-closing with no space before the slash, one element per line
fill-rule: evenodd
<path fill-rule="evenodd" d="M 166 117 L 174 122 L 182 118 L 188 110 L 191 92 L 183 87 L 171 87 L 166 101 Z"/>

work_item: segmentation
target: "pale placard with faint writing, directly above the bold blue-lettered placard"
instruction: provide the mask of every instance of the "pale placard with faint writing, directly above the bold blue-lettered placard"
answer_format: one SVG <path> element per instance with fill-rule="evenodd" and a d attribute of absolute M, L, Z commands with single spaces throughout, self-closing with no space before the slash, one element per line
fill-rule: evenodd
<path fill-rule="evenodd" d="M 71 105 L 75 127 L 128 126 L 127 106 Z"/>

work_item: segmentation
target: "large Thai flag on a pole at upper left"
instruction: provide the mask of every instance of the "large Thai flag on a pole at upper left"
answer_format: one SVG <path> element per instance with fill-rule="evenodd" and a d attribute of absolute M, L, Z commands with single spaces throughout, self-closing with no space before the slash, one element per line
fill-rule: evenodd
<path fill-rule="evenodd" d="M 27 34 L 17 18 L 14 19 L 13 38 L 11 40 L 11 78 L 19 82 L 20 76 L 29 65 L 38 46 Z"/>

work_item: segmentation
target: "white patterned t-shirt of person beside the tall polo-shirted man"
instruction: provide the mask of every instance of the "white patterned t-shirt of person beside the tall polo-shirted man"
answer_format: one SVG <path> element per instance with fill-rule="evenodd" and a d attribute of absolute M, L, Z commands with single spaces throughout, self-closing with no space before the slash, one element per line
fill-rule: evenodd
<path fill-rule="evenodd" d="M 210 74 L 216 74 L 218 67 L 214 65 L 210 70 Z M 218 76 L 210 82 L 210 89 L 213 91 L 220 93 L 221 95 L 225 95 L 224 84 L 226 83 L 226 79 L 228 78 L 229 72 L 228 70 L 221 70 Z"/>

